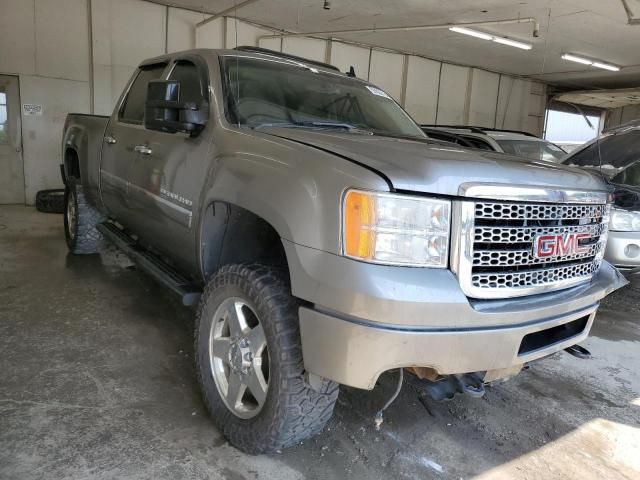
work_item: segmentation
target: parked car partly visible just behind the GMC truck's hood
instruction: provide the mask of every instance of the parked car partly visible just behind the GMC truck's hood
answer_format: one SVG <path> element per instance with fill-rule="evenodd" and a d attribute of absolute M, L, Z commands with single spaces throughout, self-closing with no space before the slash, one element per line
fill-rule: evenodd
<path fill-rule="evenodd" d="M 421 125 L 421 128 L 431 138 L 532 160 L 558 163 L 567 154 L 558 145 L 529 132 L 456 125 Z"/>

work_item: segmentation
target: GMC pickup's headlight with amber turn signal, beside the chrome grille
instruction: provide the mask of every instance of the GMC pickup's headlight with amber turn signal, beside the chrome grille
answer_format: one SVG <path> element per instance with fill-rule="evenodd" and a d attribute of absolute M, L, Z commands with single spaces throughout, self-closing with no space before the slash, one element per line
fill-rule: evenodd
<path fill-rule="evenodd" d="M 349 190 L 342 215 L 347 257 L 387 265 L 447 267 L 448 200 Z"/>

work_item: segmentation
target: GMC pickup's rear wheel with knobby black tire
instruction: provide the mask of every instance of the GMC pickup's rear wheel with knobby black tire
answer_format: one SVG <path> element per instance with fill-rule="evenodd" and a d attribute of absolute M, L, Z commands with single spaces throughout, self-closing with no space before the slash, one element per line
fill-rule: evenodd
<path fill-rule="evenodd" d="M 82 185 L 70 178 L 64 192 L 64 234 L 69 251 L 74 254 L 97 253 L 104 245 L 104 237 L 97 225 L 104 216 L 84 197 Z"/>

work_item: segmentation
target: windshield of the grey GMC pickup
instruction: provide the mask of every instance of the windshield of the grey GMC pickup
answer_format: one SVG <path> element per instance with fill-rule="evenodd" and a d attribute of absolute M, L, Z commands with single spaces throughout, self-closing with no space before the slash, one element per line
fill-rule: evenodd
<path fill-rule="evenodd" d="M 228 56 L 223 66 L 234 123 L 426 137 L 389 95 L 359 80 L 278 60 Z"/>

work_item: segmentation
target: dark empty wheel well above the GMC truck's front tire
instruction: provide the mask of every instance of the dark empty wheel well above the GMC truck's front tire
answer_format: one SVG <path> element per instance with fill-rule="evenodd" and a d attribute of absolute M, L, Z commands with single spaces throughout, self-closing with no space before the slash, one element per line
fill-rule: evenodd
<path fill-rule="evenodd" d="M 207 207 L 200 234 L 203 277 L 232 263 L 261 262 L 283 267 L 289 275 L 282 239 L 269 222 L 237 205 Z"/>

